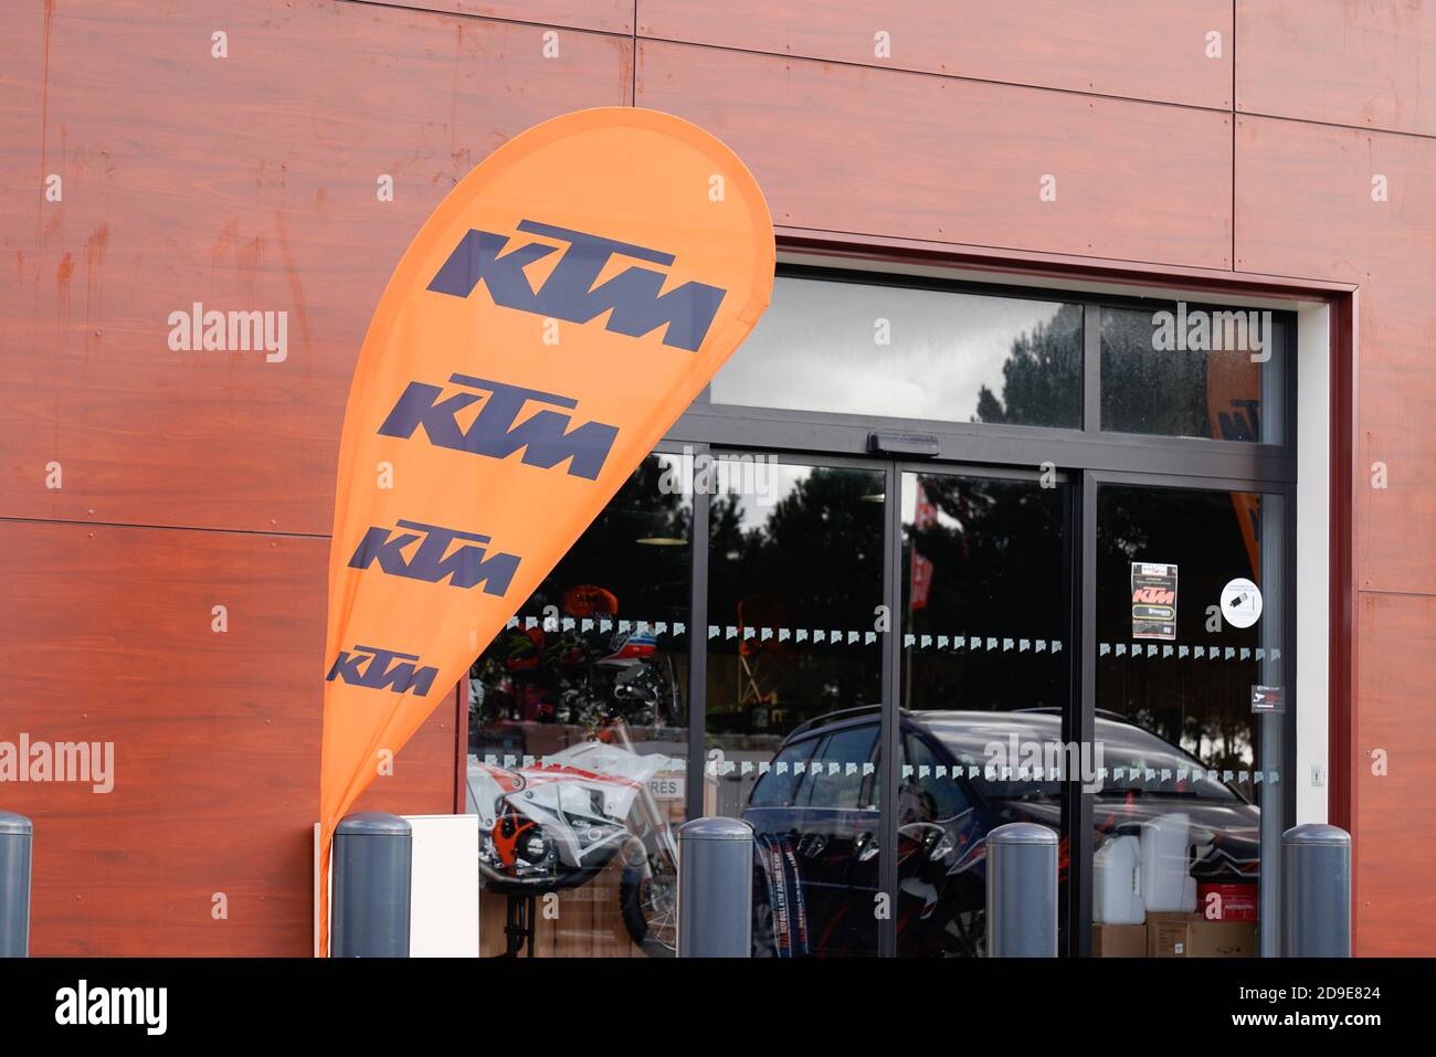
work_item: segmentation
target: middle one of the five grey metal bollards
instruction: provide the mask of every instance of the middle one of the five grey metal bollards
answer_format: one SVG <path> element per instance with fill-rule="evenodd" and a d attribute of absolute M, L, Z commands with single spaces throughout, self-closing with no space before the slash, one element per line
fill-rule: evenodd
<path fill-rule="evenodd" d="M 678 956 L 752 956 L 752 827 L 741 819 L 678 830 Z"/>

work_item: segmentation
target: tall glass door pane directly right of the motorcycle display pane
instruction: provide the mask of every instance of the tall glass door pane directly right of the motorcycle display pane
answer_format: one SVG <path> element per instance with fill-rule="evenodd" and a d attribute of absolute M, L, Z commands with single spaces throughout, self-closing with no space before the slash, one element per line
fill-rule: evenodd
<path fill-rule="evenodd" d="M 885 474 L 751 468 L 711 506 L 702 811 L 757 834 L 755 956 L 875 955 Z"/>

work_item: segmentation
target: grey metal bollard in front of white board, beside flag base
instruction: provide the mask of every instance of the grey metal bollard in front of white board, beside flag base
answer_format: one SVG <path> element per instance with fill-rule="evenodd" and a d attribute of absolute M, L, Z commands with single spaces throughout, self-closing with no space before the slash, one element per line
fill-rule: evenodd
<path fill-rule="evenodd" d="M 359 811 L 335 829 L 335 958 L 408 958 L 414 829 Z"/>

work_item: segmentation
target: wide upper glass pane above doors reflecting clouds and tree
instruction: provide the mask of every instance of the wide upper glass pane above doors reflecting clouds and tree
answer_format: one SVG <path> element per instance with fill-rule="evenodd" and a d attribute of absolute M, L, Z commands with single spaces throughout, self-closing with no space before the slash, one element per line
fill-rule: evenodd
<path fill-rule="evenodd" d="M 714 404 L 1081 425 L 1080 304 L 780 276 Z"/>

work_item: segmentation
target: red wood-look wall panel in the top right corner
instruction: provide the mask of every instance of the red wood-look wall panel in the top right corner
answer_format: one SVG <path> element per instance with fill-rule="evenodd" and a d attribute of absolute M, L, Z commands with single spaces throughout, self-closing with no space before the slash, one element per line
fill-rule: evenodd
<path fill-rule="evenodd" d="M 1436 6 L 1236 0 L 1236 108 L 1436 134 Z"/>

